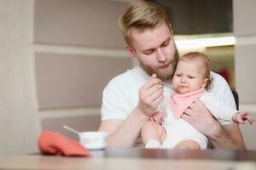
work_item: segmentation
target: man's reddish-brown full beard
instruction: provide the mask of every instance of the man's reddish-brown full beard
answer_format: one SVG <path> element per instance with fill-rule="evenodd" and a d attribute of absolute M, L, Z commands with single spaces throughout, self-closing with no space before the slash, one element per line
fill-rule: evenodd
<path fill-rule="evenodd" d="M 152 76 L 153 74 L 156 74 L 158 78 L 160 78 L 163 82 L 165 82 L 167 80 L 172 79 L 174 71 L 176 70 L 177 60 L 178 60 L 178 52 L 177 52 L 177 48 L 175 47 L 174 58 L 168 63 L 170 64 L 169 67 L 166 69 L 163 69 L 162 71 L 155 68 L 151 68 L 147 65 L 144 65 L 141 60 L 139 60 L 139 64 L 143 68 L 143 70 L 148 73 L 148 76 Z"/>

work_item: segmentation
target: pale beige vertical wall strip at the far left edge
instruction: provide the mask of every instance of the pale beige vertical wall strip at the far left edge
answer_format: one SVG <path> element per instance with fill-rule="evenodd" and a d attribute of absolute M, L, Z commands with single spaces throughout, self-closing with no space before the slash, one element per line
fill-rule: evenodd
<path fill-rule="evenodd" d="M 37 151 L 32 0 L 0 2 L 0 156 Z"/>

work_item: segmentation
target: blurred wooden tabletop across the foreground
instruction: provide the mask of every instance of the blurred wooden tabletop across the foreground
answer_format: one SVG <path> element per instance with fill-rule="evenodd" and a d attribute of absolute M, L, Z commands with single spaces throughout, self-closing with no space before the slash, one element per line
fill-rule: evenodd
<path fill-rule="evenodd" d="M 0 159 L 0 169 L 256 169 L 256 150 L 146 150 L 119 148 L 93 151 L 93 157 L 42 156 Z"/>

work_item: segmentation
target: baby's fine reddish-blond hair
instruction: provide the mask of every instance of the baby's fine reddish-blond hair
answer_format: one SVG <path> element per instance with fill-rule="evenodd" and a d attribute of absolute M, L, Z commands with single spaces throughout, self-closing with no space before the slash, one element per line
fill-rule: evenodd
<path fill-rule="evenodd" d="M 184 60 L 184 61 L 191 60 L 191 59 L 201 59 L 202 60 L 203 65 L 204 65 L 204 68 L 202 68 L 202 69 L 205 69 L 205 78 L 208 79 L 206 89 L 209 89 L 211 82 L 212 82 L 212 79 L 210 77 L 210 72 L 211 72 L 210 59 L 208 58 L 208 56 L 206 54 L 202 54 L 199 52 L 190 52 L 190 53 L 184 54 L 181 58 L 179 58 L 179 60 Z"/>

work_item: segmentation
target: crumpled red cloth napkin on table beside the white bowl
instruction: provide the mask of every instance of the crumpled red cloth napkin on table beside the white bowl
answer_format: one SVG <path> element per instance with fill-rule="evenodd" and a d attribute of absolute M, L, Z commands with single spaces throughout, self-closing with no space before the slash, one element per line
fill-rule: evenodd
<path fill-rule="evenodd" d="M 90 151 L 76 140 L 69 139 L 61 133 L 44 131 L 38 138 L 38 149 L 43 154 L 55 156 L 85 156 L 90 157 Z"/>

